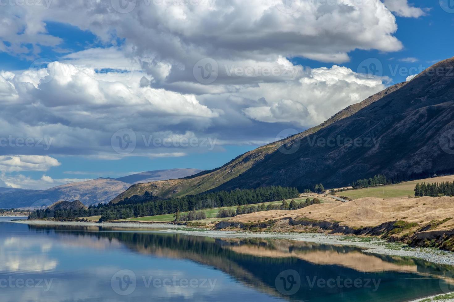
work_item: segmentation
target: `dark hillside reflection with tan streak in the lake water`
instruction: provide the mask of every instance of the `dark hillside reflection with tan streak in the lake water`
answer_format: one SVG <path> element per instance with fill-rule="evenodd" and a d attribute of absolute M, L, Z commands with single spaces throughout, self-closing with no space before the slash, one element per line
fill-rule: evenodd
<path fill-rule="evenodd" d="M 409 300 L 441 292 L 440 282 L 454 283 L 450 278 L 454 275 L 451 266 L 420 259 L 365 254 L 360 248 L 344 245 L 257 238 L 212 239 L 105 227 L 84 227 L 81 230 L 73 226 L 49 228 L 33 225 L 30 228 L 54 230 L 59 235 L 114 240 L 141 254 L 191 260 L 219 269 L 262 292 L 298 301 L 326 301 L 330 296 L 336 301 Z M 80 240 L 77 242 L 81 243 Z M 276 276 L 287 269 L 294 269 L 301 276 L 301 289 L 291 297 L 282 296 L 275 287 Z M 377 292 L 372 292 L 371 288 L 311 288 L 308 281 L 314 277 L 326 280 L 375 278 L 381 282 Z"/>

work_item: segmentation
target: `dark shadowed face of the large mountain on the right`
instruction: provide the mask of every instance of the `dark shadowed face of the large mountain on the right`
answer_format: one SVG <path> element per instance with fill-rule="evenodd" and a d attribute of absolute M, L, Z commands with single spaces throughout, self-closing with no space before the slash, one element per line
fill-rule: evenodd
<path fill-rule="evenodd" d="M 383 173 L 397 179 L 454 172 L 454 58 L 425 70 L 354 115 L 300 139 L 296 152 L 274 152 L 217 189 L 266 185 L 344 186 Z M 334 146 L 318 140 L 349 138 Z M 367 146 L 367 140 L 375 143 Z M 315 144 L 314 144 L 315 142 Z M 292 147 L 290 146 L 290 148 Z"/>

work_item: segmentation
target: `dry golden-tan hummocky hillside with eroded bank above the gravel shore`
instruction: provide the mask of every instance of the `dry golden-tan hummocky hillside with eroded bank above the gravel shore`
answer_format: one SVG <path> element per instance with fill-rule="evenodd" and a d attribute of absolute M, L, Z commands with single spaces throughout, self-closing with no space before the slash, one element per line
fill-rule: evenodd
<path fill-rule="evenodd" d="M 217 229 L 375 235 L 454 251 L 454 198 L 360 198 L 296 211 L 262 211 L 218 222 Z"/>

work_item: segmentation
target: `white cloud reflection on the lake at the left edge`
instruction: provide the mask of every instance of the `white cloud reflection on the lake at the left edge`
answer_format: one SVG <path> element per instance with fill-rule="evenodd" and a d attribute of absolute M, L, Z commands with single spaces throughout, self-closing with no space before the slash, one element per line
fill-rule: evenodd
<path fill-rule="evenodd" d="M 51 248 L 52 243 L 43 243 L 38 238 L 8 237 L 0 242 L 0 270 L 34 273 L 54 270 L 58 261 L 46 255 Z"/>

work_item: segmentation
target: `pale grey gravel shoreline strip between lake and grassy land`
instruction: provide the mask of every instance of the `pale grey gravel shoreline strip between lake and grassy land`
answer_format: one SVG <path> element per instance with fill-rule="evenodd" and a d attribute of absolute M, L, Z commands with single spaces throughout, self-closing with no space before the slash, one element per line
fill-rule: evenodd
<path fill-rule="evenodd" d="M 364 237 L 354 237 L 345 235 L 327 235 L 321 233 L 255 233 L 247 231 L 219 231 L 219 230 L 205 230 L 194 231 L 196 228 L 188 228 L 184 225 L 169 225 L 159 223 L 112 223 L 112 222 L 73 222 L 73 221 L 33 221 L 33 220 L 21 220 L 11 221 L 14 223 L 22 223 L 29 225 L 79 225 L 79 226 L 107 226 L 107 227 L 123 227 L 123 228 L 149 228 L 149 229 L 161 229 L 159 231 L 192 235 L 192 236 L 204 236 L 212 238 L 263 238 L 263 239 L 289 239 L 297 241 L 313 242 L 318 244 L 339 244 L 339 245 L 350 245 L 363 248 L 363 252 L 371 254 L 382 254 L 390 256 L 401 256 L 401 257 L 412 257 L 423 259 L 428 262 L 436 264 L 447 264 L 454 266 L 454 253 L 443 251 L 439 249 L 427 249 L 427 248 L 409 248 L 400 249 L 399 246 L 403 244 L 390 243 L 385 240 L 378 238 L 368 238 L 364 240 Z M 183 229 L 183 230 L 182 230 Z M 188 229 L 188 230 L 184 230 Z M 391 249 L 388 249 L 391 247 Z"/>

